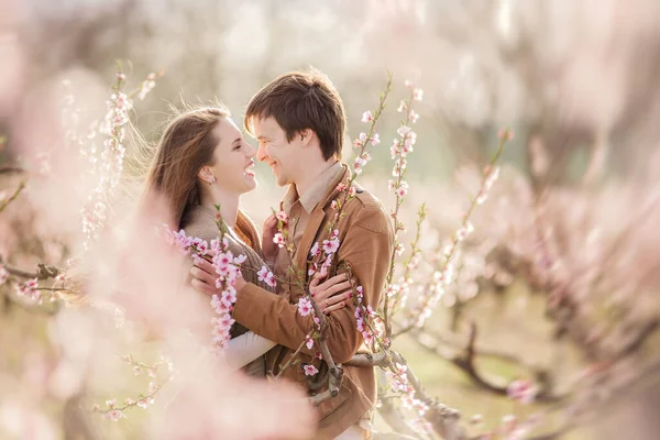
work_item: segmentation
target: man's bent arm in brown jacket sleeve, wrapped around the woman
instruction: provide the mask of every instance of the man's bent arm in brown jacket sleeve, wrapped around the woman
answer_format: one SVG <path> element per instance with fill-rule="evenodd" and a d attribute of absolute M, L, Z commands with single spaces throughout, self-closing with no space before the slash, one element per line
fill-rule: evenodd
<path fill-rule="evenodd" d="M 339 261 L 351 265 L 352 275 L 363 287 L 364 304 L 377 307 L 389 268 L 393 232 L 385 212 L 373 205 L 362 208 L 358 219 L 339 249 Z M 284 297 L 273 295 L 261 287 L 248 283 L 237 295 L 233 318 L 250 330 L 280 345 L 296 350 L 311 333 L 311 315 L 302 317 L 297 305 Z M 346 306 L 327 316 L 327 342 L 334 362 L 348 362 L 363 342 L 358 331 L 355 306 L 352 299 Z M 314 354 L 317 350 L 302 351 Z"/>

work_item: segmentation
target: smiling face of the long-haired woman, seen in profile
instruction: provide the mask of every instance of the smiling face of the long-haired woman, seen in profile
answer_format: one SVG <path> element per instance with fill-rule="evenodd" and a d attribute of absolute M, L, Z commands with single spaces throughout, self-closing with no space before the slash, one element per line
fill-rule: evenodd
<path fill-rule="evenodd" d="M 213 151 L 213 161 L 208 165 L 216 176 L 213 185 L 232 194 L 244 194 L 256 188 L 256 150 L 245 142 L 241 130 L 230 118 L 222 118 L 213 129 L 213 135 L 220 140 Z"/>

